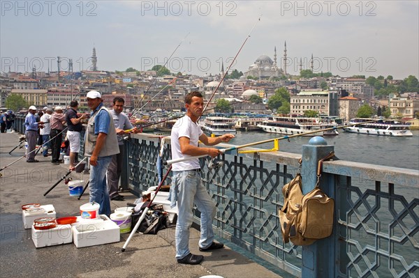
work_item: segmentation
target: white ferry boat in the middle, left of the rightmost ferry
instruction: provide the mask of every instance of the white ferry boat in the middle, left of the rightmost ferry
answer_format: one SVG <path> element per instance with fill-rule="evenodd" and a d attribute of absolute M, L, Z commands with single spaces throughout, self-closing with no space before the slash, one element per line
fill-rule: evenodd
<path fill-rule="evenodd" d="M 337 126 L 335 122 L 322 122 L 318 118 L 294 118 L 271 116 L 263 121 L 258 127 L 265 132 L 279 133 L 279 134 L 303 134 L 306 132 L 314 132 L 316 130 L 323 130 L 325 128 L 334 128 Z M 325 136 L 338 135 L 337 129 L 326 130 L 324 132 L 314 132 L 307 134 L 307 136 Z"/>

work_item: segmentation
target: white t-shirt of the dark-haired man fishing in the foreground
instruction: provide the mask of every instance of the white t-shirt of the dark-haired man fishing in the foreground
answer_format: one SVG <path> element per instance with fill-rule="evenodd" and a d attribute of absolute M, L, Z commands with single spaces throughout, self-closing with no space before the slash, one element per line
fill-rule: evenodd
<path fill-rule="evenodd" d="M 191 155 L 184 155 L 180 151 L 180 137 L 187 137 L 189 138 L 189 144 L 192 146 L 198 146 L 199 137 L 202 134 L 203 131 L 200 129 L 200 126 L 196 123 L 193 123 L 189 116 L 179 118 L 175 125 L 173 125 L 172 132 L 170 134 L 170 139 L 172 142 L 172 159 L 174 160 L 181 157 L 191 157 Z M 193 169 L 200 169 L 199 158 L 172 164 L 172 171 L 186 171 Z"/>

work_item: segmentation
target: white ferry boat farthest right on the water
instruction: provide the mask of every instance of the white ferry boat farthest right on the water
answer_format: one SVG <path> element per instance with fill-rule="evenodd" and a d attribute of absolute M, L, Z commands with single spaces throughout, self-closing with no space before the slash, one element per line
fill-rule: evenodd
<path fill-rule="evenodd" d="M 410 123 L 400 120 L 382 119 L 374 123 L 365 123 L 374 121 L 373 118 L 352 118 L 348 125 L 344 128 L 346 132 L 359 134 L 370 134 L 379 136 L 413 136 L 409 130 Z"/>

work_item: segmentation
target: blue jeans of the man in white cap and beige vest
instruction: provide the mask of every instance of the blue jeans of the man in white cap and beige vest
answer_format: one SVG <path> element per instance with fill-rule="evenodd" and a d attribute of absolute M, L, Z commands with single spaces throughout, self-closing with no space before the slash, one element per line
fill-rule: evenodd
<path fill-rule="evenodd" d="M 89 202 L 96 202 L 101 205 L 99 214 L 110 216 L 110 199 L 108 187 L 106 186 L 106 171 L 112 160 L 112 155 L 98 157 L 97 166 L 90 166 L 89 178 Z"/>

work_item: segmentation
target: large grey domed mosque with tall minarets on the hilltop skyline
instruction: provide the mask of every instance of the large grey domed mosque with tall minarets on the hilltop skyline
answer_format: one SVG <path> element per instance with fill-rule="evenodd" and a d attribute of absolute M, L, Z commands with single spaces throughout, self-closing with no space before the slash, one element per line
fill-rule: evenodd
<path fill-rule="evenodd" d="M 274 48 L 274 61 L 270 56 L 262 55 L 256 59 L 249 70 L 244 72 L 244 77 L 257 77 L 258 79 L 270 79 L 272 77 L 282 77 L 286 75 L 286 43 L 284 48 L 284 70 L 277 65 L 277 47 Z"/>

